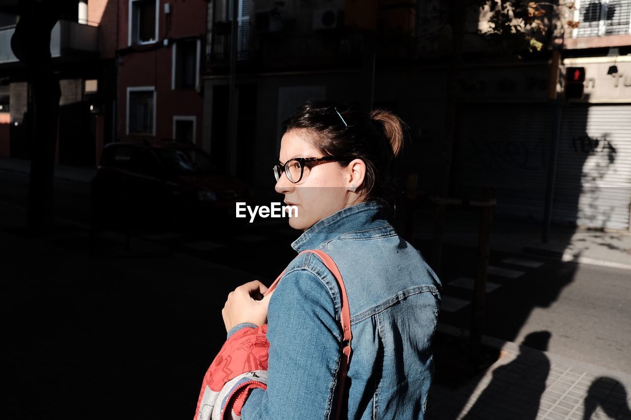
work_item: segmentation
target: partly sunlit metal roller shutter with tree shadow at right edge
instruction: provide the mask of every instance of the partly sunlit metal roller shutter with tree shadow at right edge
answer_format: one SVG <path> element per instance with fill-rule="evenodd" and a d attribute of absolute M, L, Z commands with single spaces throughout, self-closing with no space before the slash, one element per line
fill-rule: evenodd
<path fill-rule="evenodd" d="M 563 108 L 553 219 L 629 230 L 631 106 Z"/>

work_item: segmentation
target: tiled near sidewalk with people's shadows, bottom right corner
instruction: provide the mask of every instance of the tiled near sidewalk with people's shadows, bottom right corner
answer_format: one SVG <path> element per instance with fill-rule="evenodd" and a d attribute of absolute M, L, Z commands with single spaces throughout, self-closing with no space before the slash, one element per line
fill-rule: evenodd
<path fill-rule="evenodd" d="M 483 343 L 500 358 L 455 389 L 434 383 L 427 420 L 631 420 L 631 375 L 489 337 Z"/>

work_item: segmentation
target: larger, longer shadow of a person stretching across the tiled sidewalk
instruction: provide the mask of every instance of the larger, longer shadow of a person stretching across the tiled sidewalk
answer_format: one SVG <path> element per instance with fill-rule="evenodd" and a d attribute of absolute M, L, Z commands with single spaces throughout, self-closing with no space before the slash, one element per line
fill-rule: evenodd
<path fill-rule="evenodd" d="M 550 337 L 549 331 L 526 335 L 516 358 L 493 370 L 492 380 L 463 418 L 535 420 L 550 373 L 550 361 L 533 348 L 547 349 Z"/>

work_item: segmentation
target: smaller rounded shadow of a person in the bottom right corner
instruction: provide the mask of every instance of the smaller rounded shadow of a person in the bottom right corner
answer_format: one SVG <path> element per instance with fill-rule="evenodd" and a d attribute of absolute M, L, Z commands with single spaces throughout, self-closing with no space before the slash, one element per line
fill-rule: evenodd
<path fill-rule="evenodd" d="M 592 381 L 587 390 L 584 405 L 583 420 L 591 419 L 598 407 L 601 407 L 604 414 L 611 419 L 631 419 L 625 387 L 622 383 L 607 376 L 599 376 Z"/>

